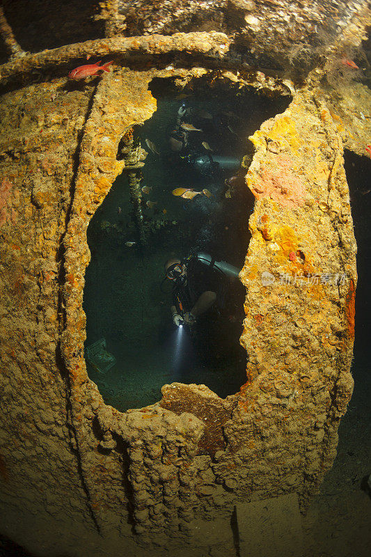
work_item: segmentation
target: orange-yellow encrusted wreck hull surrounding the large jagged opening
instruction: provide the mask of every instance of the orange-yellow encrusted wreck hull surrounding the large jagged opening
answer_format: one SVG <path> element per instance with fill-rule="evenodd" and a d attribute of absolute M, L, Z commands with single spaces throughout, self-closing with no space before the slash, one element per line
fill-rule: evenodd
<path fill-rule="evenodd" d="M 144 10 L 143 3 L 130 4 Z M 313 33 L 308 22 L 314 14 L 320 25 L 322 5 L 295 15 L 294 32 Z M 182 17 L 177 10 L 184 6 Z M 281 52 L 283 37 L 290 45 L 297 40 L 286 32 L 292 4 L 270 6 L 271 17 L 264 6 L 147 2 L 134 21 L 129 3 L 116 1 L 106 2 L 101 15 L 109 36 L 190 31 L 192 18 L 199 30 L 207 18 L 205 31 L 232 30 L 244 46 L 254 40 L 257 50 L 245 62 L 259 65 L 265 49 Z M 334 17 L 359 44 L 363 4 L 336 6 Z M 302 88 L 249 72 L 241 57 L 228 56 L 232 38 L 237 44 L 235 35 L 219 32 L 114 37 L 24 56 L 0 69 L 14 89 L 0 109 L 2 530 L 36 554 L 98 556 L 124 548 L 152 556 L 153 543 L 159 555 L 168 549 L 175 557 L 234 555 L 229 523 L 237 501 L 297 492 L 305 508 L 333 462 L 352 393 L 356 288 L 342 150 L 345 144 L 364 154 L 370 114 L 360 104 L 370 106 L 369 92 L 354 86 L 351 106 L 350 95 L 336 103 L 322 87 L 322 70 Z M 55 67 L 58 75 L 58 56 L 67 67 L 92 52 L 117 59 L 113 72 L 88 86 L 65 77 L 43 82 L 43 73 L 38 84 L 12 81 L 35 79 L 37 68 Z M 166 70 L 150 68 L 150 56 L 164 67 L 174 52 L 198 64 L 177 68 L 171 60 Z M 125 68 L 125 59 L 141 68 Z M 203 59 L 221 70 L 203 67 Z M 201 76 L 293 95 L 285 113 L 251 136 L 256 152 L 246 187 L 257 201 L 241 274 L 246 384 L 222 400 L 203 385 L 174 383 L 157 404 L 121 413 L 104 405 L 86 374 L 86 228 L 123 171 L 120 138 L 156 109 L 150 81 L 173 77 L 181 92 Z"/>

